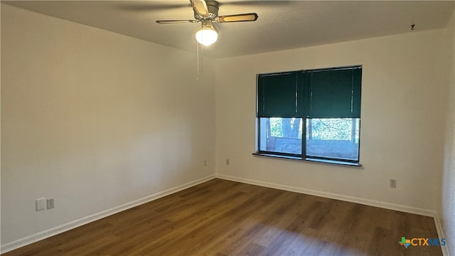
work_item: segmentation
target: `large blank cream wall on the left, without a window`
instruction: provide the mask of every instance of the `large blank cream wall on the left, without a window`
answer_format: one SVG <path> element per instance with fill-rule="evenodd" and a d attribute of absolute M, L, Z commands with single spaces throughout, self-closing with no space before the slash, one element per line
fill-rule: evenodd
<path fill-rule="evenodd" d="M 2 247 L 213 176 L 204 63 L 196 80 L 192 53 L 1 4 Z"/>

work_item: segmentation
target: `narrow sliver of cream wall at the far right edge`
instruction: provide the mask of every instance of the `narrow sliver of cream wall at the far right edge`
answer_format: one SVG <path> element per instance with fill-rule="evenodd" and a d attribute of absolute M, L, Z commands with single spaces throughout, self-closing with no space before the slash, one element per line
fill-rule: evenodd
<path fill-rule="evenodd" d="M 447 57 L 451 61 L 449 65 L 449 90 L 444 141 L 444 169 L 441 176 L 441 191 L 438 193 L 438 215 L 441 221 L 443 235 L 446 240 L 447 250 L 450 255 L 455 255 L 455 11 L 447 27 L 447 39 L 449 49 Z"/>

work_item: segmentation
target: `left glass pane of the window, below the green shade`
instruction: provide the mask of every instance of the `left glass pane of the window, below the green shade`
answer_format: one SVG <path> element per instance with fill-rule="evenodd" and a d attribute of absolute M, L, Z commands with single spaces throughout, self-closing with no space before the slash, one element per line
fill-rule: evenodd
<path fill-rule="evenodd" d="M 259 118 L 259 150 L 301 154 L 301 118 Z"/>

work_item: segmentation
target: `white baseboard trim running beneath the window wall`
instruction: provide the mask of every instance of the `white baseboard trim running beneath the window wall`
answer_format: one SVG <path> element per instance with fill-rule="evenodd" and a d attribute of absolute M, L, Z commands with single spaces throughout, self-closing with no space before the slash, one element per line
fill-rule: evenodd
<path fill-rule="evenodd" d="M 248 184 L 257 185 L 257 186 L 264 186 L 267 188 L 277 188 L 277 189 L 281 189 L 284 191 L 304 193 L 304 194 L 308 194 L 308 195 L 312 195 L 312 196 L 321 196 L 324 198 L 332 198 L 332 199 L 341 200 L 341 201 L 348 201 L 351 203 L 360 203 L 360 204 L 363 204 L 366 206 L 375 206 L 375 207 L 385 208 L 385 209 L 389 209 L 389 210 L 398 210 L 398 211 L 402 211 L 405 213 L 414 213 L 414 214 L 434 217 L 433 210 L 427 210 L 427 209 L 423 209 L 423 208 L 415 208 L 415 207 L 411 207 L 411 206 L 400 206 L 400 205 L 397 205 L 394 203 L 385 203 L 385 202 L 381 202 L 381 201 L 374 201 L 374 200 L 358 198 L 358 197 L 354 197 L 354 196 L 344 196 L 344 195 L 340 195 L 340 194 L 336 194 L 336 193 L 327 193 L 327 192 L 323 192 L 323 191 L 315 191 L 312 189 L 297 188 L 294 186 L 287 186 L 287 185 L 282 185 L 282 184 L 278 184 L 278 183 L 269 183 L 269 182 L 265 182 L 265 181 L 252 180 L 249 178 L 238 178 L 238 177 L 227 176 L 227 175 L 223 175 L 223 174 L 216 174 L 215 176 L 216 176 L 216 178 L 221 178 L 221 179 L 225 179 L 228 181 L 237 181 L 237 182 L 248 183 Z"/>

